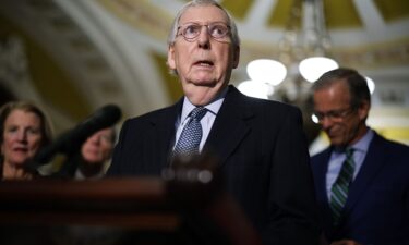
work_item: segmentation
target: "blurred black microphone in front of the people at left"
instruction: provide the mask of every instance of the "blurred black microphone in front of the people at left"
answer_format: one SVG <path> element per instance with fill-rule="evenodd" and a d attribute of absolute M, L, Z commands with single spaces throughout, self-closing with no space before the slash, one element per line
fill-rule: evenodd
<path fill-rule="evenodd" d="M 62 133 L 56 140 L 41 148 L 34 157 L 31 168 L 37 168 L 52 160 L 58 152 L 70 155 L 81 148 L 81 145 L 95 132 L 115 125 L 122 117 L 118 106 L 107 105 L 99 108 L 85 121 L 72 130 Z"/>

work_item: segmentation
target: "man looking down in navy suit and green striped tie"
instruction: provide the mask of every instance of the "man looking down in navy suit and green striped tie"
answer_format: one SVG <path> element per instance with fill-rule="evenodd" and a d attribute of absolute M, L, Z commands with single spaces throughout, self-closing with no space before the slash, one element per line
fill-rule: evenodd
<path fill-rule="evenodd" d="M 336 69 L 314 83 L 312 94 L 318 124 L 330 142 L 311 160 L 327 241 L 409 244 L 409 147 L 366 125 L 371 95 L 365 78 L 353 69 Z M 347 148 L 353 149 L 353 168 L 344 203 L 335 186 L 339 175 L 345 179 Z"/>

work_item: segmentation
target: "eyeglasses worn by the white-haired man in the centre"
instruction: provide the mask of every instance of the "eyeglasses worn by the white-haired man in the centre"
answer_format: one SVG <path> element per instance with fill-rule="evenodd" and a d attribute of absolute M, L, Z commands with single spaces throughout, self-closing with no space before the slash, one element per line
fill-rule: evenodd
<path fill-rule="evenodd" d="M 207 25 L 201 25 L 197 23 L 185 23 L 178 27 L 178 35 L 182 35 L 185 40 L 192 41 L 202 32 L 203 26 L 206 26 L 207 34 L 214 39 L 224 39 L 230 33 L 230 26 L 222 22 L 209 23 Z"/>

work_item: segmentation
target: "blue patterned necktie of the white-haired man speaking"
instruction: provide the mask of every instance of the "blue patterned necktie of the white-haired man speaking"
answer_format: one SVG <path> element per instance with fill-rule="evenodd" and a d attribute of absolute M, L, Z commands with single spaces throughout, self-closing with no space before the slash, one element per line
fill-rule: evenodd
<path fill-rule="evenodd" d="M 190 119 L 175 146 L 173 156 L 199 154 L 199 145 L 202 139 L 201 120 L 206 112 L 207 109 L 204 107 L 196 107 L 191 111 Z"/>

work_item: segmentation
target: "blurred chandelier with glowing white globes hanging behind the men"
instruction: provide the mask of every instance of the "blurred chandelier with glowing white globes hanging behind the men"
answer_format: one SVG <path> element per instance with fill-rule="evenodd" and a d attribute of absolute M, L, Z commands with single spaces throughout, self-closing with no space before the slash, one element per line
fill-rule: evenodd
<path fill-rule="evenodd" d="M 250 96 L 286 102 L 304 100 L 311 83 L 338 68 L 328 57 L 329 49 L 323 0 L 294 0 L 278 44 L 277 59 L 249 62 L 246 72 L 251 81 L 241 83 L 239 89 Z"/>

